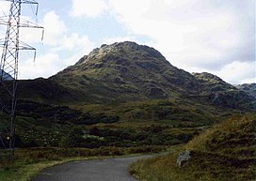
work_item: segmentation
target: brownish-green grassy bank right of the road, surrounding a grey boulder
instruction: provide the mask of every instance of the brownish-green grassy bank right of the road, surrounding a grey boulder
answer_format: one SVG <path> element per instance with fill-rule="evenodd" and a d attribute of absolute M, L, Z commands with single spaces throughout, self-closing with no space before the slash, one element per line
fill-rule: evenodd
<path fill-rule="evenodd" d="M 185 145 L 192 158 L 179 168 L 180 152 L 137 161 L 130 173 L 147 181 L 248 181 L 256 178 L 256 114 L 233 116 Z"/>

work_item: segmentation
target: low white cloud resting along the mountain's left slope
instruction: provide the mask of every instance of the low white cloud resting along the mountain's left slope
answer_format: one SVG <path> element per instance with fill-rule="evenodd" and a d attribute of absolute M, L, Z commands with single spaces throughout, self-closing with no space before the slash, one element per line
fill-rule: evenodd
<path fill-rule="evenodd" d="M 87 37 L 80 38 L 76 34 L 63 38 L 61 42 L 63 44 L 60 43 L 60 47 L 48 48 L 46 54 L 38 53 L 39 56 L 36 57 L 35 63 L 31 58 L 32 55 L 27 58 L 27 55 L 22 53 L 20 57 L 25 61 L 20 61 L 19 79 L 48 78 L 75 64 L 82 56 L 88 54 L 93 47 Z M 69 45 L 69 43 L 72 45 Z"/>

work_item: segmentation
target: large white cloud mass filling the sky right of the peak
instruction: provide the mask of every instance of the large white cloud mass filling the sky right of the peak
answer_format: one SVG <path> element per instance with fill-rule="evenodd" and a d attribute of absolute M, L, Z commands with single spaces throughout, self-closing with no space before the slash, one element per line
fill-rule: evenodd
<path fill-rule="evenodd" d="M 218 72 L 237 59 L 241 64 L 255 61 L 251 53 L 251 50 L 255 51 L 255 43 L 252 43 L 255 41 L 254 6 L 247 0 L 109 2 L 117 20 L 127 31 L 151 38 L 151 46 L 163 53 L 176 67 L 190 72 Z M 229 77 L 224 72 L 221 76 Z M 236 79 L 241 81 L 244 78 Z"/>

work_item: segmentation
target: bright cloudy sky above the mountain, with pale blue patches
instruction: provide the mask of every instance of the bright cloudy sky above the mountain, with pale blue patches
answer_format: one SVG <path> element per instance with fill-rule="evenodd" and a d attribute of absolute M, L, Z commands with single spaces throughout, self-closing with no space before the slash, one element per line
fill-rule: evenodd
<path fill-rule="evenodd" d="M 19 78 L 48 78 L 102 44 L 148 45 L 171 65 L 210 72 L 232 84 L 256 83 L 255 0 L 38 0 L 23 18 L 41 29 L 22 29 L 37 48 L 20 53 Z M 0 1 L 0 15 L 8 14 Z M 0 27 L 0 38 L 5 28 Z"/>

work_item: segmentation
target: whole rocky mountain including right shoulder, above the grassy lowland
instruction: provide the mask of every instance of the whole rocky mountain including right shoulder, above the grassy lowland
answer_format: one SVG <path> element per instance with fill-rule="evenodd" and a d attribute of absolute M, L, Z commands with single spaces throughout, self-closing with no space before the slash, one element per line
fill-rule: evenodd
<path fill-rule="evenodd" d="M 21 89 L 22 97 L 34 95 L 46 103 L 120 104 L 176 98 L 248 111 L 255 108 L 256 100 L 215 75 L 192 75 L 172 66 L 155 49 L 130 41 L 102 45 L 48 80 L 24 82 Z"/>

